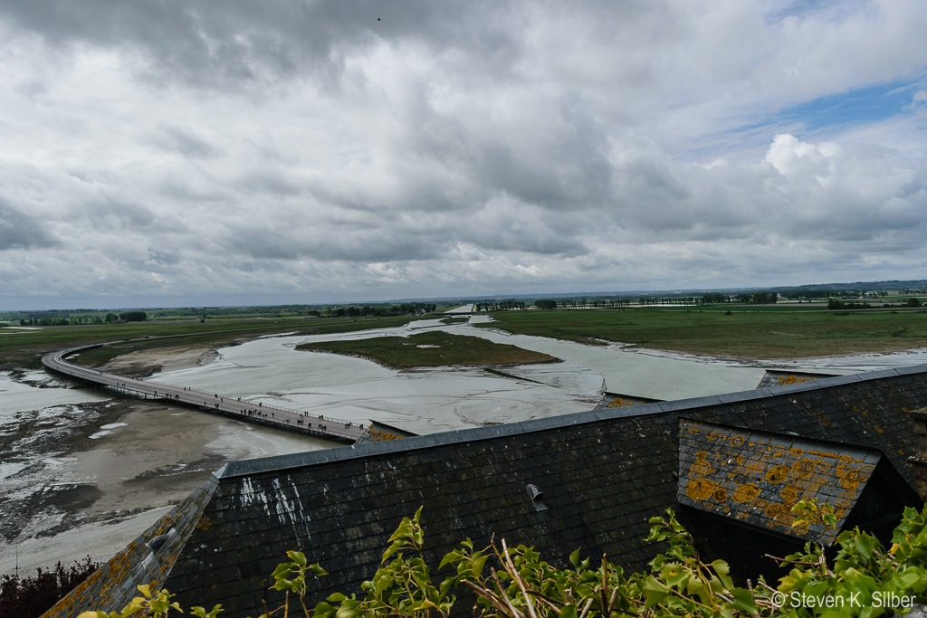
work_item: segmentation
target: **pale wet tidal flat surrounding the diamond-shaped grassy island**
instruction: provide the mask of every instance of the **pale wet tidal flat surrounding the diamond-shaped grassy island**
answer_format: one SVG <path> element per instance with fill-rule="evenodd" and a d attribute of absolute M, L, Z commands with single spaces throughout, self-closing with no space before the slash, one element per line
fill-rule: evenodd
<path fill-rule="evenodd" d="M 295 349 L 314 341 L 404 336 L 429 329 L 512 344 L 560 360 L 506 367 L 506 377 L 479 367 L 400 371 L 367 359 Z M 749 365 L 647 356 L 618 345 L 586 346 L 436 320 L 346 334 L 263 337 L 221 348 L 209 363 L 159 372 L 150 379 L 425 434 L 590 410 L 606 388 L 673 399 L 754 388 L 762 375 L 762 369 Z"/>

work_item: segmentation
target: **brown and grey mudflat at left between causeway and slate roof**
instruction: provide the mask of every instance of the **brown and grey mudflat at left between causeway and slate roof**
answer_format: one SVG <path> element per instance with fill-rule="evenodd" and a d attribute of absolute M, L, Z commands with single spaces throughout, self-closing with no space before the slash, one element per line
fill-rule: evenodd
<path fill-rule="evenodd" d="M 225 461 L 335 446 L 69 386 L 0 373 L 0 574 L 107 560 Z"/>

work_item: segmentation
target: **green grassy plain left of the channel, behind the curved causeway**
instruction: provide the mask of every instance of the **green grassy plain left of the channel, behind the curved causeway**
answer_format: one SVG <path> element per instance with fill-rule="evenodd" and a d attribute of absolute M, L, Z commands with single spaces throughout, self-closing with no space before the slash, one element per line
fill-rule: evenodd
<path fill-rule="evenodd" d="M 5 328 L 0 333 L 0 369 L 39 368 L 43 354 L 65 347 L 112 343 L 81 355 L 98 367 L 108 359 L 142 349 L 169 346 L 214 347 L 266 334 L 324 334 L 401 326 L 419 318 L 271 318 L 206 322 L 127 322 L 85 326 Z"/>

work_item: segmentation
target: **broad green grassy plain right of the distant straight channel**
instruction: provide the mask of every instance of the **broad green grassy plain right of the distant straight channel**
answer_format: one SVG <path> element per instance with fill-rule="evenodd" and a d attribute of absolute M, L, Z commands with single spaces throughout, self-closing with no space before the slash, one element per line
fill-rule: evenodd
<path fill-rule="evenodd" d="M 496 322 L 478 326 L 592 345 L 621 342 L 751 359 L 798 359 L 927 346 L 927 311 L 922 309 L 722 309 L 503 311 L 492 314 Z"/>

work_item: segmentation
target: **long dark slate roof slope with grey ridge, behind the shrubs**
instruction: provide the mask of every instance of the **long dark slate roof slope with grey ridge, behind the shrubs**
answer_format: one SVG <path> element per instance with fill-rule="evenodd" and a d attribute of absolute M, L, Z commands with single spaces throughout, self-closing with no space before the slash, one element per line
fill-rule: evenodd
<path fill-rule="evenodd" d="M 582 548 L 641 569 L 657 549 L 641 540 L 648 519 L 679 507 L 680 418 L 878 450 L 912 485 L 906 412 L 924 406 L 927 366 L 234 461 L 215 473 L 166 586 L 184 606 L 258 614 L 264 599 L 282 599 L 270 575 L 299 549 L 329 572 L 311 583 L 312 603 L 356 592 L 402 517 L 423 505 L 435 564 L 464 538 L 495 536 L 553 564 Z"/>

